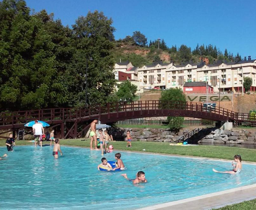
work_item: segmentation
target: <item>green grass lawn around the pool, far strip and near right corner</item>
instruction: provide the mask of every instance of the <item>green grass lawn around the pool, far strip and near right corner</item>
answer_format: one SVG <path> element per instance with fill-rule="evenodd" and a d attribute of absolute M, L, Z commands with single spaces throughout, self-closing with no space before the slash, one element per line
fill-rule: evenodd
<path fill-rule="evenodd" d="M 68 146 L 82 146 L 89 147 L 90 140 L 86 139 L 76 140 L 61 140 L 61 145 Z M 30 141 L 15 141 L 16 145 L 33 145 Z M 43 144 L 49 144 L 49 142 L 43 142 Z M 110 142 L 114 149 L 121 149 L 125 151 L 143 151 L 150 153 L 163 153 L 163 154 L 178 154 L 183 156 L 198 156 L 198 157 L 213 157 L 218 159 L 230 159 L 232 160 L 235 154 L 240 154 L 243 161 L 256 162 L 255 149 L 247 148 L 232 148 L 227 146 L 170 146 L 169 143 L 156 143 L 156 142 L 139 142 L 132 141 L 132 147 L 126 148 L 126 142 L 124 141 L 112 141 Z M 0 146 L 5 145 L 5 140 L 0 140 Z M 2 156 L 2 154 L 0 154 Z M 225 206 L 218 210 L 250 210 L 256 209 L 256 200 L 245 201 L 240 204 L 234 204 L 231 206 Z"/>

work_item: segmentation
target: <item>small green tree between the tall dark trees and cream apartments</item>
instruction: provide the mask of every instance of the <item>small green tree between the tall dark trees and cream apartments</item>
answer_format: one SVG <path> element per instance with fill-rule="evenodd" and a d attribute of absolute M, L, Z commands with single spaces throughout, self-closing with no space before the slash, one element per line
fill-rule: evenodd
<path fill-rule="evenodd" d="M 130 102 L 135 97 L 136 91 L 137 86 L 131 84 L 130 81 L 126 80 L 125 82 L 118 85 L 117 97 L 118 99 L 126 99 L 126 101 Z"/>

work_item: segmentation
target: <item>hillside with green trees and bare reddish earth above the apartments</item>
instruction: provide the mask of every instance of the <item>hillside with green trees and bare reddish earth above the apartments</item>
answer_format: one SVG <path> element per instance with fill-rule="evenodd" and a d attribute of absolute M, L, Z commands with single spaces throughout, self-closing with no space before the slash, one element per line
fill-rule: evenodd
<path fill-rule="evenodd" d="M 136 32 L 138 33 L 139 31 L 135 31 L 134 34 Z M 112 52 L 115 62 L 130 61 L 136 67 L 142 67 L 157 61 L 166 63 L 173 61 L 175 64 L 182 64 L 185 61 L 200 62 L 203 59 L 206 64 L 213 64 L 214 60 L 224 61 L 226 59 L 227 62 L 241 60 L 239 53 L 233 56 L 227 49 L 223 53 L 211 44 L 208 46 L 204 44 L 199 46 L 197 44 L 193 50 L 184 44 L 179 48 L 177 46 L 168 48 L 164 40 L 154 40 L 150 41 L 148 45 L 141 45 L 136 43 L 134 35 L 115 41 L 115 47 Z"/>

